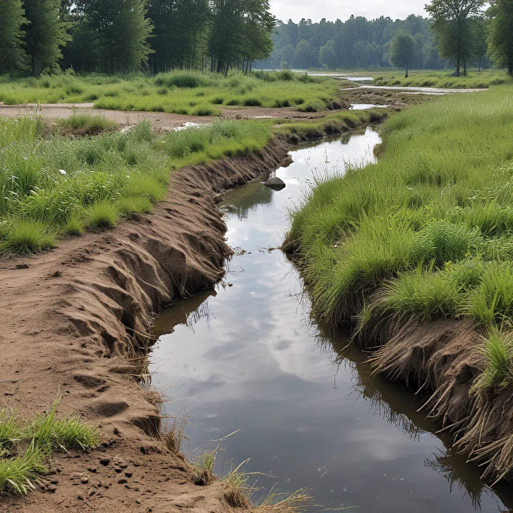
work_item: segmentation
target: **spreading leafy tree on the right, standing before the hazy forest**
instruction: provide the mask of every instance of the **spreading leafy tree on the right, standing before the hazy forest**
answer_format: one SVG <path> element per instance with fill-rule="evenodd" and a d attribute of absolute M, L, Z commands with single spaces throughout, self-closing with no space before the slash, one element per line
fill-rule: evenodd
<path fill-rule="evenodd" d="M 472 51 L 471 16 L 479 16 L 484 0 L 433 0 L 426 5 L 440 55 L 456 61 L 456 76 L 460 76 L 462 60 Z M 466 70 L 465 70 L 466 71 Z"/>

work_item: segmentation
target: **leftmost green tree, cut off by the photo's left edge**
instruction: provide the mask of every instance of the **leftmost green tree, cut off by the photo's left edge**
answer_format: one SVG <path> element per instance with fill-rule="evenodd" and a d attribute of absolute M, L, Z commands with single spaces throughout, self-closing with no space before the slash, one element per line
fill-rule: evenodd
<path fill-rule="evenodd" d="M 27 54 L 22 48 L 26 24 L 22 0 L 0 1 L 0 75 L 27 68 Z"/>

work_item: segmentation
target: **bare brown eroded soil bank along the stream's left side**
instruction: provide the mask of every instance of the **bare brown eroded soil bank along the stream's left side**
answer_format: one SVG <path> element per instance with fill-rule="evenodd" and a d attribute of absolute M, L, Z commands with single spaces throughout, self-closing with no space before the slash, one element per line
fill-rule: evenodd
<path fill-rule="evenodd" d="M 150 314 L 210 287 L 231 255 L 216 195 L 280 166 L 287 143 L 183 168 L 152 215 L 115 230 L 62 241 L 51 252 L 0 261 L 3 405 L 22 415 L 58 409 L 99 422 L 104 447 L 55 458 L 27 499 L 0 511 L 179 511 L 230 509 L 228 483 L 198 486 L 183 456 L 157 437 L 154 396 L 130 375 L 144 370 Z"/>

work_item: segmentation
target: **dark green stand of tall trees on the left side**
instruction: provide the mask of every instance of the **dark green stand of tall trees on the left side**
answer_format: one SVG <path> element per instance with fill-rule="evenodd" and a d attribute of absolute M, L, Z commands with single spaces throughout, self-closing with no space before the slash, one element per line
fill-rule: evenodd
<path fill-rule="evenodd" d="M 268 0 L 0 0 L 0 74 L 250 70 L 275 24 Z"/>

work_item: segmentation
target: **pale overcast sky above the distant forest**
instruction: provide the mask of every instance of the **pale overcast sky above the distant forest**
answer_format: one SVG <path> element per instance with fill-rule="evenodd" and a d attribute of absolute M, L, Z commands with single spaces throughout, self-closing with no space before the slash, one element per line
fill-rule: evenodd
<path fill-rule="evenodd" d="M 357 0 L 340 2 L 340 0 L 270 0 L 271 12 L 278 19 L 287 23 L 291 18 L 298 23 L 301 18 L 310 18 L 318 22 L 321 18 L 345 21 L 351 14 L 365 16 L 368 19 L 390 16 L 392 19 L 405 18 L 408 14 L 427 16 L 424 5 L 428 0 Z"/>

